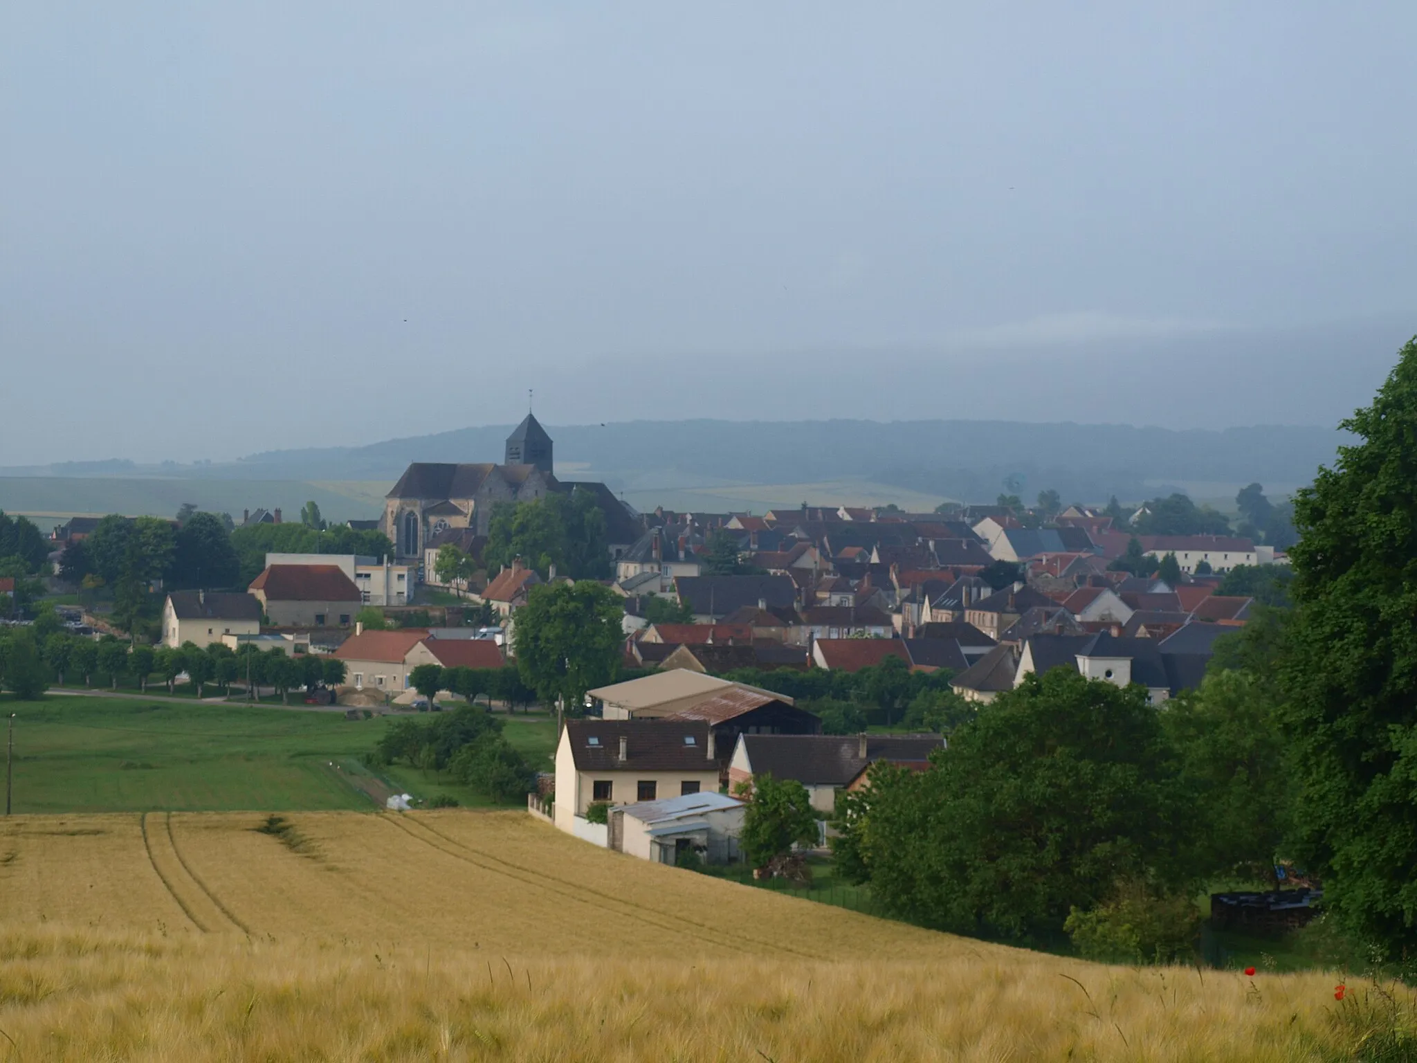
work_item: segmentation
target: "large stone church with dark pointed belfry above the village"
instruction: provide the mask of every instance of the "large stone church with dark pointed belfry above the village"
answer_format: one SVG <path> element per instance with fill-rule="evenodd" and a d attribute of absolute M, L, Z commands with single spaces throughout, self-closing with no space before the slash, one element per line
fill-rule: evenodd
<path fill-rule="evenodd" d="M 541 424 L 527 414 L 507 437 L 502 465 L 492 462 L 414 462 L 384 497 L 381 530 L 400 561 L 418 563 L 424 546 L 448 529 L 487 534 L 492 509 L 500 502 L 530 502 L 574 489 L 595 495 L 605 513 L 611 557 L 619 557 L 643 533 L 635 512 L 604 483 L 558 480 L 553 473 L 553 444 Z"/>

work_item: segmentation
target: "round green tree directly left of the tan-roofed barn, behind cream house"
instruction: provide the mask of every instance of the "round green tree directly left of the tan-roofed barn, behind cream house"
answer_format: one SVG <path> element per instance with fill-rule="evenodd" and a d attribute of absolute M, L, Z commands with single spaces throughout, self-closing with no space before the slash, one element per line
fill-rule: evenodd
<path fill-rule="evenodd" d="M 513 626 L 521 680 L 543 703 L 563 699 L 580 716 L 585 692 L 619 672 L 623 615 L 621 600 L 598 583 L 533 587 Z"/>

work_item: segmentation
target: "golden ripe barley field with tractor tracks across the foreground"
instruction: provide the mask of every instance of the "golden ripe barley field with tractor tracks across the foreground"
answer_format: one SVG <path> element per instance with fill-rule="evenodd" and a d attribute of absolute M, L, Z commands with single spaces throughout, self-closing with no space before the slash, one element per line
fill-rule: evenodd
<path fill-rule="evenodd" d="M 1338 1060 L 1410 1015 L 1326 974 L 935 934 L 524 814 L 264 823 L 0 821 L 0 1062 Z"/>

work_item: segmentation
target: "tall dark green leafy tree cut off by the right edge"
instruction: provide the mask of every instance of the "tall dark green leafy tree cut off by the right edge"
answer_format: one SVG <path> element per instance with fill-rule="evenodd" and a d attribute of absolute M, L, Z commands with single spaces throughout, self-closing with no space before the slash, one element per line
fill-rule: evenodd
<path fill-rule="evenodd" d="M 1285 723 L 1299 855 L 1325 901 L 1389 955 L 1417 955 L 1417 339 L 1355 442 L 1299 490 Z"/>

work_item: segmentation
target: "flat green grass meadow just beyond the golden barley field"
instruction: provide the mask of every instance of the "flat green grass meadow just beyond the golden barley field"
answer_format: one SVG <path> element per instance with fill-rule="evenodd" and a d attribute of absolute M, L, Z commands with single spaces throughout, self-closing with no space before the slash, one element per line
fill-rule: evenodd
<path fill-rule="evenodd" d="M 16 812 L 368 809 L 344 765 L 364 758 L 390 717 L 142 697 L 0 699 L 16 713 Z M 504 734 L 541 770 L 555 724 L 512 716 Z M 412 768 L 384 772 L 417 797 L 486 799 Z"/>

